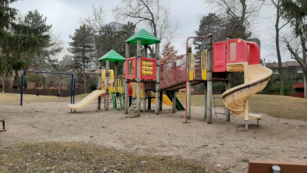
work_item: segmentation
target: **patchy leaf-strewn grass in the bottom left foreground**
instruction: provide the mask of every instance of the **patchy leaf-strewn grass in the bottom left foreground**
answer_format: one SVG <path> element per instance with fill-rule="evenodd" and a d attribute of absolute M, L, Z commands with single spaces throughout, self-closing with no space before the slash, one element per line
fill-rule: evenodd
<path fill-rule="evenodd" d="M 209 171 L 206 171 L 208 169 Z M 23 143 L 0 148 L 1 173 L 219 171 L 168 156 L 137 155 L 82 142 Z"/>

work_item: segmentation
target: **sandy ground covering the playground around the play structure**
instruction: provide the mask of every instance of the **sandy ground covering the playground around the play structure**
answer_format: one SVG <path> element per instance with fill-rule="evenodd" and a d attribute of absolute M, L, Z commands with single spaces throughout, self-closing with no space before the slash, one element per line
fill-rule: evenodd
<path fill-rule="evenodd" d="M 138 154 L 192 159 L 236 173 L 247 172 L 243 159 L 307 162 L 304 121 L 263 115 L 259 127 L 257 120 L 251 120 L 245 130 L 244 119 L 233 115 L 230 122 L 218 115 L 207 124 L 203 107 L 192 106 L 192 119 L 186 124 L 184 111 L 173 114 L 165 105 L 161 115 L 150 111 L 140 118 L 125 118 L 124 111 L 96 110 L 95 102 L 76 113 L 64 102 L 17 104 L 0 103 L 0 117 L 8 130 L 0 133 L 0 145 L 83 141 Z"/>

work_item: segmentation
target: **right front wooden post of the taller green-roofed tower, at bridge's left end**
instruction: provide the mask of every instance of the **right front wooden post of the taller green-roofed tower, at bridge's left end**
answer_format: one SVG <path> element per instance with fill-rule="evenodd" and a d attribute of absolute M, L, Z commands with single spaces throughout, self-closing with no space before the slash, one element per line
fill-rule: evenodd
<path fill-rule="evenodd" d="M 160 91 L 160 43 L 156 42 L 156 111 L 155 111 L 156 115 L 158 115 L 160 111 L 159 91 Z"/>

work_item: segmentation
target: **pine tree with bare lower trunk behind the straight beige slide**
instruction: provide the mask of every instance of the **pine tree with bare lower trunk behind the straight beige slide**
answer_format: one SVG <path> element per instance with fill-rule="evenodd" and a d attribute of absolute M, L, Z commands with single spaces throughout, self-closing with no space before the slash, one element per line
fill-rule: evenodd
<path fill-rule="evenodd" d="M 73 41 L 69 42 L 70 48 L 68 50 L 74 54 L 75 68 L 79 69 L 83 73 L 84 90 L 87 93 L 86 86 L 86 69 L 89 63 L 93 61 L 94 54 L 94 41 L 93 34 L 90 27 L 81 25 L 79 29 L 76 29 L 74 35 L 69 35 Z"/>

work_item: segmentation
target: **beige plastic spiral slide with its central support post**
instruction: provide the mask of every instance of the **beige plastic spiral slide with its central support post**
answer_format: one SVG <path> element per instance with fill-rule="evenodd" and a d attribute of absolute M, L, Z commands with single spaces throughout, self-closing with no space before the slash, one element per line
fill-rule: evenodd
<path fill-rule="evenodd" d="M 244 71 L 244 84 L 225 91 L 222 100 L 233 114 L 244 117 L 245 128 L 248 128 L 249 119 L 262 118 L 262 115 L 248 113 L 248 99 L 266 87 L 273 72 L 260 64 L 248 65 L 248 62 L 227 64 L 227 71 Z"/>

